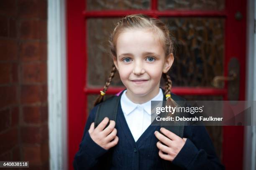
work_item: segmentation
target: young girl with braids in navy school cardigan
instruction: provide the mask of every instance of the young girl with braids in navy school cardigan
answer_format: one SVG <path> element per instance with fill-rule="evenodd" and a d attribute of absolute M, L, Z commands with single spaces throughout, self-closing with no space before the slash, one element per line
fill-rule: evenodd
<path fill-rule="evenodd" d="M 74 169 L 160 170 L 166 169 L 164 161 L 170 170 L 224 169 L 204 126 L 185 126 L 183 138 L 151 126 L 151 100 L 174 96 L 167 75 L 174 61 L 173 43 L 166 25 L 146 15 L 128 15 L 113 30 L 110 48 L 113 68 L 87 119 Z M 116 70 L 127 88 L 117 103 L 116 122 L 105 117 L 95 128 L 98 104 Z M 161 76 L 165 91 L 160 88 Z"/>

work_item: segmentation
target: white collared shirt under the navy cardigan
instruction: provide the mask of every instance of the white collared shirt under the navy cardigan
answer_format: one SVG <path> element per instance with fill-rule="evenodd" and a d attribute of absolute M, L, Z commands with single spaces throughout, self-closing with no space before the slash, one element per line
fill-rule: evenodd
<path fill-rule="evenodd" d="M 153 99 L 143 104 L 136 104 L 128 99 L 126 91 L 123 92 L 120 102 L 124 117 L 136 142 L 151 124 L 151 100 L 162 101 L 163 92 L 159 88 L 159 93 Z"/>

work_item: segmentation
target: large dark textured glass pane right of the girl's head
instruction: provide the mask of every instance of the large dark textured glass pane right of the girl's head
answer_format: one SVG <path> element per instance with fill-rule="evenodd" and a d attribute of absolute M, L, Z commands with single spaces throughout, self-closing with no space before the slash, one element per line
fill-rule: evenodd
<path fill-rule="evenodd" d="M 212 86 L 223 75 L 223 18 L 161 18 L 174 37 L 174 86 Z"/>

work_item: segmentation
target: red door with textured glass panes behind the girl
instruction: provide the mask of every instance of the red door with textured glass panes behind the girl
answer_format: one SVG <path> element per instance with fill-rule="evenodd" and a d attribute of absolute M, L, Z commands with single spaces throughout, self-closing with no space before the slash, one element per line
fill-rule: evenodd
<path fill-rule="evenodd" d="M 154 14 L 169 25 L 177 43 L 176 63 L 170 73 L 175 94 L 187 99 L 229 100 L 228 82 L 220 88 L 211 82 L 215 76 L 228 76 L 228 64 L 236 58 L 240 64 L 237 100 L 245 100 L 245 0 L 111 2 L 67 0 L 69 169 L 73 169 L 92 100 L 110 71 L 108 36 L 113 23 L 127 14 Z M 107 93 L 115 94 L 121 89 L 116 75 Z M 226 169 L 242 169 L 243 127 L 208 130 Z"/>

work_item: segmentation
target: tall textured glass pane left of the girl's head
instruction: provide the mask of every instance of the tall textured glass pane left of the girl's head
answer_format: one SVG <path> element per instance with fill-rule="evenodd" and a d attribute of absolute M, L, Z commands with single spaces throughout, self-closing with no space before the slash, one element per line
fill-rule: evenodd
<path fill-rule="evenodd" d="M 110 55 L 108 38 L 120 18 L 87 20 L 87 82 L 91 87 L 103 87 L 111 71 L 113 59 Z M 118 72 L 110 84 L 123 86 Z"/>

